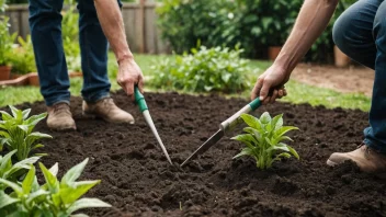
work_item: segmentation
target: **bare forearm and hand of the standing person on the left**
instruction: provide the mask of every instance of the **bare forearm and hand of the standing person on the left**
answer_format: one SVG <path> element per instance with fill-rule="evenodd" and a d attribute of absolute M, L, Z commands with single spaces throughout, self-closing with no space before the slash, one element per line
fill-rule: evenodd
<path fill-rule="evenodd" d="M 122 13 L 116 0 L 94 0 L 99 21 L 104 35 L 118 62 L 117 82 L 134 100 L 134 85 L 144 92 L 144 76 L 128 48 Z"/>

